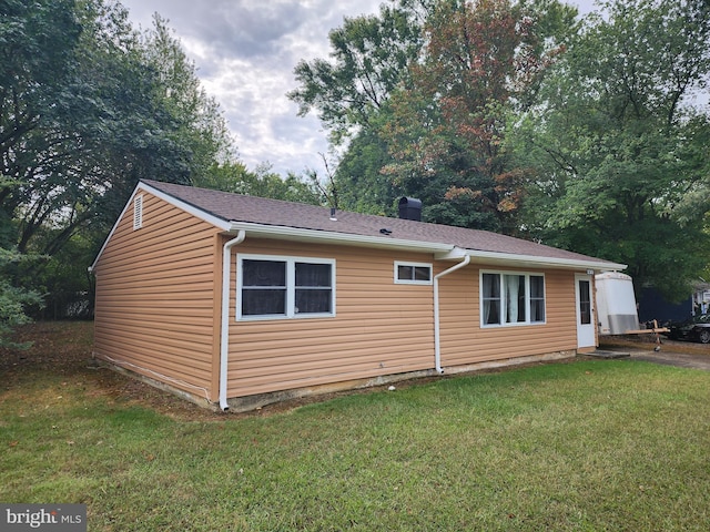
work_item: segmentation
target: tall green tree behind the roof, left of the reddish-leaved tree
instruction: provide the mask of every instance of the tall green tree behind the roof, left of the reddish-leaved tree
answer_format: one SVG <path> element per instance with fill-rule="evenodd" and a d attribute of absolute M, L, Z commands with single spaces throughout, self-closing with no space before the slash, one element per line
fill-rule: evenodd
<path fill-rule="evenodd" d="M 378 124 L 419 57 L 434 3 L 397 0 L 383 3 L 378 14 L 345 19 L 329 33 L 331 58 L 301 61 L 295 69 L 300 85 L 288 96 L 301 115 L 314 111 L 332 144 L 344 149 L 329 183 L 342 208 L 392 212 L 398 191 L 379 172 L 390 156 Z"/>

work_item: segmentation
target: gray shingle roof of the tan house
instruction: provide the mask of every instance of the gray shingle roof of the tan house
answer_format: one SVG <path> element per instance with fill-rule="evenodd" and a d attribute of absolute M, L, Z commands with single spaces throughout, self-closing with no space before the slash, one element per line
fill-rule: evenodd
<path fill-rule="evenodd" d="M 273 227 L 292 227 L 343 235 L 395 238 L 432 244 L 448 244 L 464 249 L 526 255 L 561 260 L 605 263 L 602 259 L 558 249 L 535 242 L 500 235 L 487 231 L 467 229 L 409 219 L 389 218 L 338 211 L 337 221 L 331 221 L 327 207 L 283 202 L 256 196 L 245 196 L 192 186 L 143 181 L 181 202 L 192 205 L 225 222 L 262 224 Z M 384 235 L 381 229 L 389 229 Z M 618 269 L 609 262 L 610 269 Z"/>

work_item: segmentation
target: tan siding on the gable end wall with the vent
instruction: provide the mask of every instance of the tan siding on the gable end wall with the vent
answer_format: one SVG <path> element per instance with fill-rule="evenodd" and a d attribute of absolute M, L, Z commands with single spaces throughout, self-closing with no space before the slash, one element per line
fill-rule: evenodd
<path fill-rule="evenodd" d="M 142 228 L 126 209 L 94 270 L 99 358 L 214 400 L 217 232 L 148 193 Z"/>

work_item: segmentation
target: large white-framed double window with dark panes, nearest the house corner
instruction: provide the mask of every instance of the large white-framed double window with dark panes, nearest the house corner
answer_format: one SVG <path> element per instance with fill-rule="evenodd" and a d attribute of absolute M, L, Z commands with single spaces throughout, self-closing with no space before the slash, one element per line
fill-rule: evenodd
<path fill-rule="evenodd" d="M 276 255 L 236 256 L 236 318 L 335 316 L 335 260 Z"/>

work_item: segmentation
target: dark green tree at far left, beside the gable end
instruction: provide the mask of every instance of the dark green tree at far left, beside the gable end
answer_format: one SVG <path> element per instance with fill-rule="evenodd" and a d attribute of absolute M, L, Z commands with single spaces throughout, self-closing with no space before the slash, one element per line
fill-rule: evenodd
<path fill-rule="evenodd" d="M 88 225 L 112 223 L 138 178 L 186 182 L 189 146 L 165 133 L 172 117 L 151 98 L 158 76 L 125 10 L 19 3 L 2 19 L 12 60 L 0 114 L 2 175 L 19 186 L 2 191 L 0 211 L 20 252 L 51 254 Z M 61 231 L 39 248 L 45 226 Z"/>

